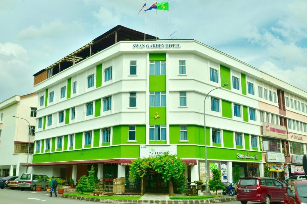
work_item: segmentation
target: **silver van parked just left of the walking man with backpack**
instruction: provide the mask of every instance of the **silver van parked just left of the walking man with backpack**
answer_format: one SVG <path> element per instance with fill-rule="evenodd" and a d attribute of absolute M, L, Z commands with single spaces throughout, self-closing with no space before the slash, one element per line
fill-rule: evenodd
<path fill-rule="evenodd" d="M 41 187 L 45 190 L 48 188 L 48 184 L 49 178 L 46 175 L 22 174 L 18 182 L 18 187 L 20 190 L 36 190 L 36 187 Z"/>

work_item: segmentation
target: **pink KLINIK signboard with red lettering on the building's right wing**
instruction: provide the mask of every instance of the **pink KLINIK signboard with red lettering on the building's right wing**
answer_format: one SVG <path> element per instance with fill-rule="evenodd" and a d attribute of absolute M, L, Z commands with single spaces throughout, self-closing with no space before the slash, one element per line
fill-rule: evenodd
<path fill-rule="evenodd" d="M 263 122 L 262 135 L 280 139 L 288 139 L 287 128 L 285 126 L 274 125 Z"/>

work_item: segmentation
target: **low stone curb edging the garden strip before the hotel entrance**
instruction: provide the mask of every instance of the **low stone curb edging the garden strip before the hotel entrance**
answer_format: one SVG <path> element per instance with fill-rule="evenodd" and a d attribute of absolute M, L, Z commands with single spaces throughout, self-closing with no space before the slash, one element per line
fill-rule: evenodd
<path fill-rule="evenodd" d="M 61 198 L 71 198 L 76 200 L 105 202 L 105 203 L 140 203 L 140 204 L 199 204 L 199 203 L 216 203 L 216 202 L 230 202 L 236 201 L 237 197 L 230 198 L 214 198 L 206 200 L 117 200 L 117 199 L 104 199 L 104 198 L 90 198 L 76 195 L 61 195 Z"/>

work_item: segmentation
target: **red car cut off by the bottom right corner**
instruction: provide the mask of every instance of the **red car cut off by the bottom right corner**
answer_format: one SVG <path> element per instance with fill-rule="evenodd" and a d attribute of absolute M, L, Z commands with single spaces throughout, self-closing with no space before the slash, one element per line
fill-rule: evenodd
<path fill-rule="evenodd" d="M 307 203 L 307 181 L 293 181 L 287 184 L 284 204 Z"/>

